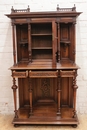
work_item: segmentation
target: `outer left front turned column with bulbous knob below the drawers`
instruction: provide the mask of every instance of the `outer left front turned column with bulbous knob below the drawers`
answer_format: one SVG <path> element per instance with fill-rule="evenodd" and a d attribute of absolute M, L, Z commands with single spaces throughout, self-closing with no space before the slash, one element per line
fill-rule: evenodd
<path fill-rule="evenodd" d="M 16 85 L 16 80 L 15 80 L 15 78 L 13 78 L 13 86 L 12 86 L 12 89 L 13 89 L 13 96 L 14 96 L 14 108 L 15 108 L 15 110 L 14 110 L 14 112 L 15 112 L 15 118 L 18 118 L 18 110 L 17 110 L 17 92 L 16 92 L 16 90 L 17 90 L 17 85 Z"/>

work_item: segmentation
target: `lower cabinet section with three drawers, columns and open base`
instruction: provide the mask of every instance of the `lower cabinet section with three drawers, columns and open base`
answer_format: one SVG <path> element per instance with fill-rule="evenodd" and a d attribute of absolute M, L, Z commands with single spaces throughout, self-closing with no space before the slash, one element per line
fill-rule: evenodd
<path fill-rule="evenodd" d="M 13 124 L 77 125 L 76 76 L 77 70 L 12 71 L 15 106 Z M 16 103 L 17 88 L 19 109 Z"/>

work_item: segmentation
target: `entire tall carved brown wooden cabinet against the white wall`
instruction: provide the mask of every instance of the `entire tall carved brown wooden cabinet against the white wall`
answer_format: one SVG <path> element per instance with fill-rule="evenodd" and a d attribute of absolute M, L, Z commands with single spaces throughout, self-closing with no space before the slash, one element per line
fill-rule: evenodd
<path fill-rule="evenodd" d="M 74 6 L 49 12 L 12 7 L 6 15 L 13 32 L 14 125 L 78 124 L 75 26 L 79 14 Z"/>

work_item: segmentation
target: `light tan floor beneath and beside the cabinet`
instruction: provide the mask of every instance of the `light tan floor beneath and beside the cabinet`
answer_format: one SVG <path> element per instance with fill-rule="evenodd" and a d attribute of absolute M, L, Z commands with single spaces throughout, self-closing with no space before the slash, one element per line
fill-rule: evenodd
<path fill-rule="evenodd" d="M 72 126 L 39 126 L 39 125 L 21 125 L 14 127 L 12 122 L 13 115 L 0 114 L 0 130 L 87 130 L 87 115 L 79 115 L 79 125 L 77 128 Z"/>

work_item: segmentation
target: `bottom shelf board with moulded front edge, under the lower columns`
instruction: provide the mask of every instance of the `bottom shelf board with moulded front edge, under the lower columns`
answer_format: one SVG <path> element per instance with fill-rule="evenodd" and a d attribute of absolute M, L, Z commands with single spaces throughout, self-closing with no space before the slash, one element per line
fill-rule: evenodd
<path fill-rule="evenodd" d="M 61 117 L 57 116 L 57 106 L 53 104 L 52 108 L 40 105 L 40 107 L 35 106 L 33 109 L 33 115 L 29 116 L 28 109 L 19 109 L 19 118 L 13 119 L 13 124 L 58 124 L 58 125 L 78 125 L 78 118 L 72 118 L 72 108 L 61 108 Z"/>

